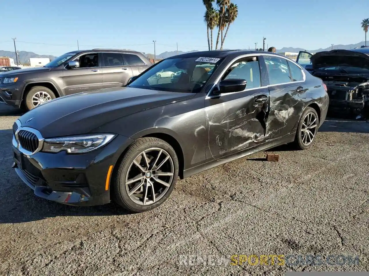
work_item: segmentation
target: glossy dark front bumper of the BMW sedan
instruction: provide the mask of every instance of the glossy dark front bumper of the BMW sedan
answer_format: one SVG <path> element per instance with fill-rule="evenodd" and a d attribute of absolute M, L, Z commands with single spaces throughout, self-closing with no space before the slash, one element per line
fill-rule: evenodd
<path fill-rule="evenodd" d="M 37 152 L 25 155 L 13 135 L 13 167 L 38 197 L 68 205 L 110 202 L 109 167 L 115 165 L 131 139 L 118 135 L 106 146 L 85 154 Z M 110 180 L 110 179 L 109 179 Z"/>

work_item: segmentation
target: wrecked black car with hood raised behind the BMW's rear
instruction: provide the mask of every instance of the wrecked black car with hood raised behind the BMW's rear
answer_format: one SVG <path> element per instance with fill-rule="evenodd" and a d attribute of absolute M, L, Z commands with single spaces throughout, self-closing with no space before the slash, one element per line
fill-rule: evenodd
<path fill-rule="evenodd" d="M 300 52 L 296 62 L 323 79 L 333 116 L 369 118 L 369 48 Z"/>

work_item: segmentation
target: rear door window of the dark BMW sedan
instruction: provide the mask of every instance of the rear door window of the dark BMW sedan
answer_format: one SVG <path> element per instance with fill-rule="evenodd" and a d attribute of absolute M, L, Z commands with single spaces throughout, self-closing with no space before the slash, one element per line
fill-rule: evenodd
<path fill-rule="evenodd" d="M 264 56 L 264 60 L 268 70 L 269 84 L 291 82 L 290 70 L 286 59 L 277 56 Z"/>

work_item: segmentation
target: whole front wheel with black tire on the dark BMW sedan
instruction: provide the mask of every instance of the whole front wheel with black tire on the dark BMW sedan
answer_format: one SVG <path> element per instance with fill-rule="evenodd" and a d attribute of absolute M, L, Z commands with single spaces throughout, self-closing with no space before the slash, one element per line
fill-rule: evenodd
<path fill-rule="evenodd" d="M 145 163 L 143 157 L 144 152 L 147 159 L 149 159 L 147 163 L 151 171 L 147 170 L 147 163 Z M 168 159 L 164 161 L 167 156 L 169 156 Z M 139 164 L 141 169 L 134 161 Z M 178 178 L 179 162 L 174 149 L 167 142 L 159 138 L 145 137 L 137 139 L 127 149 L 116 167 L 111 183 L 111 197 L 115 203 L 123 208 L 138 213 L 158 207 L 169 197 Z M 152 168 L 158 167 L 160 170 L 152 170 Z M 166 172 L 166 170 L 169 170 L 169 172 Z M 151 173 L 148 174 L 149 172 Z M 172 174 L 172 176 L 158 176 L 158 173 Z M 161 182 L 169 183 L 169 187 L 156 181 L 154 176 Z M 134 178 L 139 178 L 139 180 L 132 180 Z M 134 182 L 126 185 L 128 181 Z M 134 192 L 136 187 L 139 188 Z M 152 190 L 154 190 L 154 193 Z M 144 197 L 145 191 L 147 197 Z M 129 192 L 132 192 L 132 194 L 128 194 Z"/>

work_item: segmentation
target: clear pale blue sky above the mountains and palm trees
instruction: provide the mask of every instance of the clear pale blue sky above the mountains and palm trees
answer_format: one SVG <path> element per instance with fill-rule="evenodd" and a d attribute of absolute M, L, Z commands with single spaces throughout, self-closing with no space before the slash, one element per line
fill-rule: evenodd
<path fill-rule="evenodd" d="M 369 18 L 368 0 L 232 0 L 238 18 L 224 48 L 268 46 L 318 49 L 365 39 L 360 26 Z M 271 3 L 271 4 L 269 4 Z M 307 4 L 309 3 L 309 4 Z M 333 5 L 332 5 L 333 4 Z M 13 0 L 1 5 L 0 50 L 58 56 L 93 47 L 154 53 L 206 50 L 205 8 L 201 0 Z M 9 24 L 10 18 L 14 18 Z M 216 35 L 216 34 L 215 34 Z M 369 33 L 368 33 L 369 37 Z M 368 38 L 369 40 L 369 38 Z"/>

